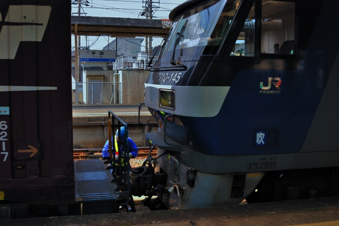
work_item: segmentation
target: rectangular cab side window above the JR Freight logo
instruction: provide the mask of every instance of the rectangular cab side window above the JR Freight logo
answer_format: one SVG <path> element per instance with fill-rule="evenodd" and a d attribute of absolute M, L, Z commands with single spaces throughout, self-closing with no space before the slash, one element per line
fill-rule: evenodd
<path fill-rule="evenodd" d="M 295 2 L 262 0 L 261 53 L 295 54 Z"/>

